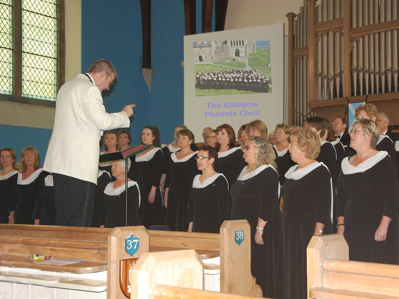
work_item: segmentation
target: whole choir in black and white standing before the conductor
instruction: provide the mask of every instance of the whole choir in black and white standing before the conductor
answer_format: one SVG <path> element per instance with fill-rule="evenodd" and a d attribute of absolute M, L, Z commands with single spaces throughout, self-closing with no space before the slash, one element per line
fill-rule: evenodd
<path fill-rule="evenodd" d="M 350 260 L 398 265 L 398 138 L 372 104 L 358 107 L 356 119 L 348 128 L 344 118 L 312 116 L 271 133 L 261 120 L 237 131 L 222 124 L 205 127 L 200 141 L 177 125 L 169 145 L 158 127 L 146 126 L 141 141 L 152 147 L 128 163 L 99 165 L 92 226 L 125 226 L 126 208 L 128 225 L 174 231 L 218 233 L 224 220 L 246 219 L 252 274 L 269 298 L 306 298 L 314 235 L 344 234 Z M 131 140 L 128 130 L 110 131 L 101 153 Z M 0 222 L 54 224 L 51 173 L 39 167 L 38 151 L 28 146 L 17 159 L 3 148 L 0 165 Z"/>

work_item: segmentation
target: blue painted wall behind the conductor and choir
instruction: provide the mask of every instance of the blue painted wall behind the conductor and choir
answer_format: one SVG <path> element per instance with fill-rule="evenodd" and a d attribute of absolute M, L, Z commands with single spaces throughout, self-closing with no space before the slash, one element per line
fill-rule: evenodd
<path fill-rule="evenodd" d="M 144 126 L 157 125 L 161 141 L 173 140 L 174 128 L 184 120 L 183 0 L 152 0 L 152 88 L 142 75 L 142 30 L 139 0 L 82 0 L 82 72 L 91 62 L 106 58 L 113 62 L 118 81 L 103 94 L 108 112 L 136 104 L 132 118 L 133 144 L 141 142 Z M 197 1 L 197 32 L 201 31 L 201 1 Z M 214 12 L 213 12 L 214 16 Z M 214 18 L 212 22 L 214 30 Z M 51 130 L 0 125 L 0 147 L 10 146 L 17 155 L 27 146 L 36 147 L 41 163 Z M 200 141 L 201 137 L 197 137 Z"/>

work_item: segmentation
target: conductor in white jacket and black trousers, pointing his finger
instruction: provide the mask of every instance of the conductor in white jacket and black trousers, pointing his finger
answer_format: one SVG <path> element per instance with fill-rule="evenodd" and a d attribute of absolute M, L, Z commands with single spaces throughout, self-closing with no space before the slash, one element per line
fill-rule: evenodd
<path fill-rule="evenodd" d="M 92 63 L 59 90 L 54 128 L 43 169 L 53 173 L 56 225 L 91 226 L 102 130 L 130 127 L 135 105 L 107 113 L 101 93 L 116 71 L 105 59 Z"/>

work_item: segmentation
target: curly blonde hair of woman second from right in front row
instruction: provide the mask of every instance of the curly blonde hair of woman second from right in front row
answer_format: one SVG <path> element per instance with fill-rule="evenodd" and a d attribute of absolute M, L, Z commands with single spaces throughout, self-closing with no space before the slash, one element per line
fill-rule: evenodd
<path fill-rule="evenodd" d="M 310 129 L 300 128 L 291 135 L 298 139 L 298 149 L 305 152 L 308 159 L 316 159 L 320 153 L 321 139 L 319 134 Z"/>

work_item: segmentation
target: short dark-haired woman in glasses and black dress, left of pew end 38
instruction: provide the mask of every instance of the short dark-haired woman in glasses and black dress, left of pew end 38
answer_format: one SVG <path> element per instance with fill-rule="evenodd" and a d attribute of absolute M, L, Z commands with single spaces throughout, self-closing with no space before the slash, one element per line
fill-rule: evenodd
<path fill-rule="evenodd" d="M 221 224 L 228 219 L 227 179 L 213 169 L 217 161 L 217 151 L 214 148 L 200 148 L 196 159 L 202 174 L 196 175 L 191 189 L 188 231 L 219 233 Z"/>

